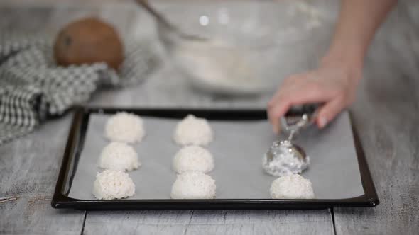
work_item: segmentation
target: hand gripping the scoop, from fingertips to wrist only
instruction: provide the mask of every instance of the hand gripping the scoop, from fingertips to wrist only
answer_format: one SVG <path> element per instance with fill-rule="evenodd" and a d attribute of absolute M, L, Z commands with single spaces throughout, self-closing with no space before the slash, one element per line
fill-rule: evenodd
<path fill-rule="evenodd" d="M 327 61 L 313 71 L 289 76 L 268 103 L 273 132 L 280 132 L 280 117 L 293 105 L 323 103 L 315 122 L 322 128 L 354 102 L 361 66 L 339 60 Z"/>

